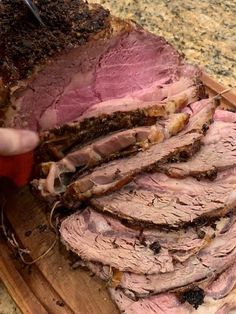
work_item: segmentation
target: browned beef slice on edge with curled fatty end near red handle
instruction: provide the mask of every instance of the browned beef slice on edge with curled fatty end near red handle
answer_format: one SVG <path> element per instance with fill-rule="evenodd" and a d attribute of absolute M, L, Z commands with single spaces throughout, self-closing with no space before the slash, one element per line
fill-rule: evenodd
<path fill-rule="evenodd" d="M 95 165 L 134 154 L 140 150 L 148 149 L 154 143 L 179 133 L 188 123 L 187 113 L 170 115 L 169 119 L 160 120 L 150 127 L 139 127 L 113 133 L 82 147 L 73 147 L 59 162 L 47 162 L 40 166 L 41 175 L 45 179 L 34 180 L 33 185 L 41 194 L 56 195 L 65 191 L 66 186 L 79 173 Z M 75 173 L 73 175 L 73 173 Z"/>

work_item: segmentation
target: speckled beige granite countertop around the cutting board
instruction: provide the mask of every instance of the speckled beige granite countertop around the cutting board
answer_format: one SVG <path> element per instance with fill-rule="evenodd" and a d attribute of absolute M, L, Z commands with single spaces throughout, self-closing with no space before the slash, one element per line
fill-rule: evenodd
<path fill-rule="evenodd" d="M 90 1 L 95 2 L 95 1 Z M 97 0 L 164 36 L 225 86 L 236 85 L 236 0 Z M 0 283 L 0 314 L 20 311 Z"/>

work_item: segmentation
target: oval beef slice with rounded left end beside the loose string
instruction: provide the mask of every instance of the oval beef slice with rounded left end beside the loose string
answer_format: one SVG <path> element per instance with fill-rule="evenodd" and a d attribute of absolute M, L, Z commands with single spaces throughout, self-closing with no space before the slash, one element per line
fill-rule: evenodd
<path fill-rule="evenodd" d="M 63 243 L 83 260 L 154 274 L 173 271 L 176 262 L 186 261 L 206 246 L 214 230 L 135 230 L 88 208 L 65 219 L 60 234 Z"/>

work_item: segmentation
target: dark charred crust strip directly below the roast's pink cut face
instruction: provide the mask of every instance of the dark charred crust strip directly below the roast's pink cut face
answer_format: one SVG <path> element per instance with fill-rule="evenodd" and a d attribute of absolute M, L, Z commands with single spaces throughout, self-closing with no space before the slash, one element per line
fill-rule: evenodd
<path fill-rule="evenodd" d="M 155 122 L 155 117 L 147 117 L 143 112 L 136 110 L 131 113 L 115 112 L 110 116 L 92 117 L 74 125 L 65 124 L 42 135 L 41 145 L 36 151 L 36 160 L 60 160 L 72 146 L 82 145 L 110 132 L 153 125 Z"/>

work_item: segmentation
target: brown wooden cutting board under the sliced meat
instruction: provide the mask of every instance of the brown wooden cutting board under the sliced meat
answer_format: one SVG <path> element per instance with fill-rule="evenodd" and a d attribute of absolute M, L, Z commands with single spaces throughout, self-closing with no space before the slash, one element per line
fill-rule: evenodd
<path fill-rule="evenodd" d="M 208 75 L 202 79 L 210 95 L 225 89 Z M 236 108 L 236 95 L 225 93 L 222 106 Z M 0 191 L 7 198 L 5 221 L 21 247 L 30 250 L 28 260 L 37 258 L 50 247 L 55 236 L 45 204 L 33 197 L 28 187 L 17 191 L 4 181 L 0 182 Z M 118 313 L 105 283 L 83 269 L 73 270 L 60 243 L 36 264 L 24 265 L 0 239 L 0 277 L 23 313 Z"/>

